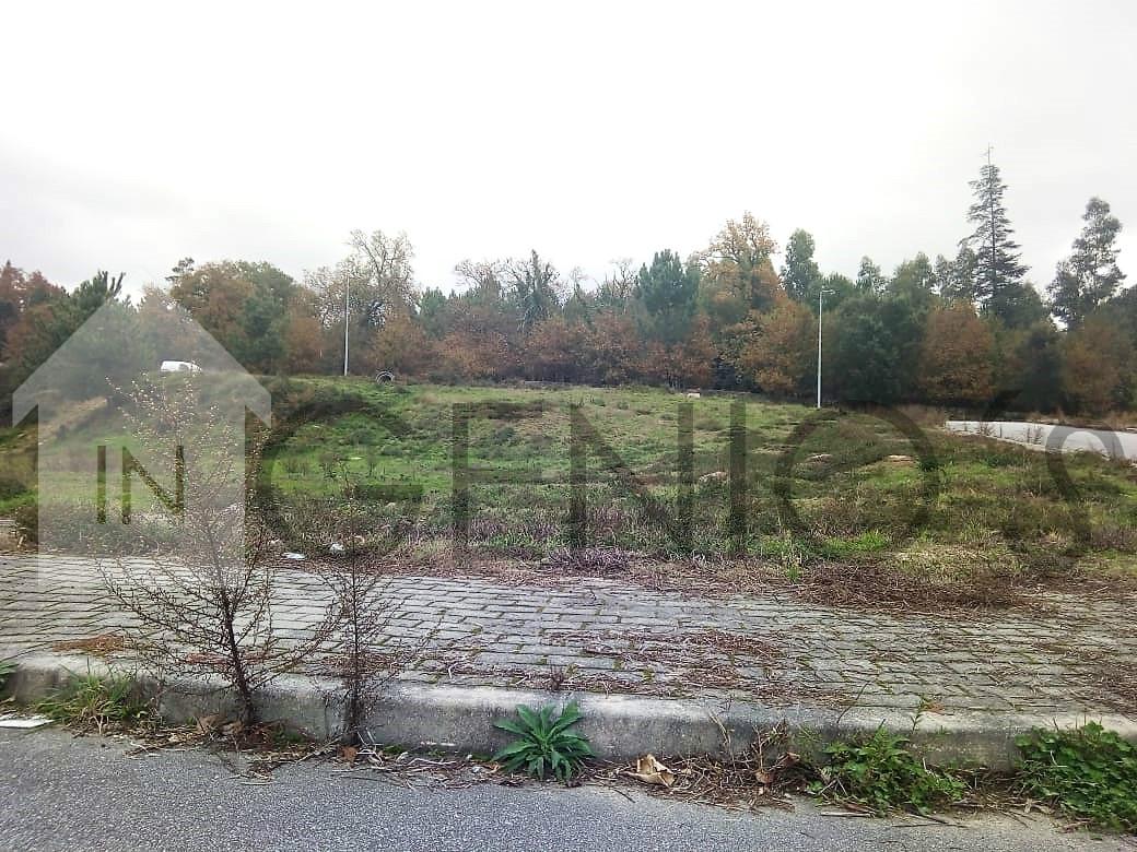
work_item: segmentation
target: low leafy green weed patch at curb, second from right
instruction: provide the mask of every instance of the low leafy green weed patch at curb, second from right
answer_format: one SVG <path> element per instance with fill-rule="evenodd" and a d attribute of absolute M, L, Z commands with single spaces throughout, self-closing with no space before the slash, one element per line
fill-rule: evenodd
<path fill-rule="evenodd" d="M 819 769 L 813 795 L 868 808 L 878 816 L 897 810 L 929 813 L 963 797 L 966 785 L 951 772 L 929 769 L 906 737 L 878 728 L 872 736 L 832 743 Z"/>

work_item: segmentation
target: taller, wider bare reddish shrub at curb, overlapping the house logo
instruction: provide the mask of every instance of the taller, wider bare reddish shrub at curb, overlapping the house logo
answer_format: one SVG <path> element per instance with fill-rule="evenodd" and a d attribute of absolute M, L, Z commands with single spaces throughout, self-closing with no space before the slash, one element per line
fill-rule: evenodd
<path fill-rule="evenodd" d="M 158 501 L 173 535 L 152 559 L 100 560 L 111 596 L 140 623 L 133 645 L 157 673 L 211 675 L 236 696 L 239 721 L 256 720 L 256 695 L 293 670 L 326 628 L 284 642 L 273 630 L 275 571 L 266 532 L 244 499 L 243 441 L 216 406 L 202 407 L 193 382 L 136 384 L 127 416 L 155 469 L 184 466 L 181 506 Z M 231 451 L 226 451 L 231 450 Z M 250 465 L 258 458 L 252 450 Z"/>

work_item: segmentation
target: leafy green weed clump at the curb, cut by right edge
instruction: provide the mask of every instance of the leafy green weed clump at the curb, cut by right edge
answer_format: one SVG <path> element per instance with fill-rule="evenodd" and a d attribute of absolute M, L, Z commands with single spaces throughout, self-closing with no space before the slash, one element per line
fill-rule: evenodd
<path fill-rule="evenodd" d="M 1137 832 L 1137 746 L 1097 722 L 1015 740 L 1022 791 L 1074 819 Z"/>

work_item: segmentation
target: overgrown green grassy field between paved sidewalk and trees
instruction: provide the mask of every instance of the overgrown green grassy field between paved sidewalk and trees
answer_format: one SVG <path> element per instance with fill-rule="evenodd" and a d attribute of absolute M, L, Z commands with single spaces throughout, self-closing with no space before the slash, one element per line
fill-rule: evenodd
<path fill-rule="evenodd" d="M 1137 561 L 1134 468 L 1088 454 L 1063 457 L 1073 486 L 1064 490 L 1043 453 L 948 435 L 926 412 L 814 412 L 656 389 L 266 383 L 275 424 L 262 500 L 283 517 L 310 521 L 334 513 L 350 495 L 368 504 L 376 531 L 406 533 L 400 552 L 410 560 L 450 544 L 451 433 L 462 407 L 475 412 L 468 467 L 505 479 L 470 486 L 471 549 L 529 560 L 565 549 L 572 541 L 570 411 L 579 407 L 608 448 L 586 453 L 592 549 L 674 559 L 689 543 L 697 557 L 747 556 L 789 573 L 818 561 L 887 561 L 918 576 L 957 577 L 1074 569 L 1123 576 Z M 746 474 L 735 499 L 745 534 L 738 515 L 730 520 L 736 400 L 745 403 L 745 435 L 736 440 L 745 440 Z M 692 427 L 689 488 L 679 475 L 684 407 Z M 98 435 L 93 416 L 76 423 L 66 441 L 78 452 Z M 32 449 L 26 432 L 0 433 L 8 479 L 27 479 Z M 616 458 L 622 477 L 611 469 Z M 673 524 L 683 498 L 694 517 L 689 542 L 661 519 Z M 0 491 L 0 512 L 33 499 L 9 485 Z"/>

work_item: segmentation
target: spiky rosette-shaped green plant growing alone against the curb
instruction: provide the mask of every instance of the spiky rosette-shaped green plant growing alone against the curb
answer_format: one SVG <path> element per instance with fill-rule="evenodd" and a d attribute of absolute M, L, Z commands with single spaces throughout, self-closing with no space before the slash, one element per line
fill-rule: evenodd
<path fill-rule="evenodd" d="M 551 772 L 568 782 L 584 761 L 594 757 L 588 738 L 568 730 L 580 719 L 575 702 L 567 704 L 559 715 L 553 704 L 537 711 L 518 704 L 516 721 L 496 722 L 496 727 L 516 734 L 517 738 L 495 754 L 493 760 L 511 771 L 524 768 L 534 778 L 545 778 Z"/>

